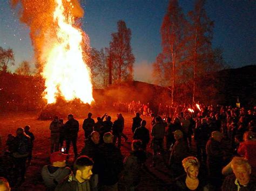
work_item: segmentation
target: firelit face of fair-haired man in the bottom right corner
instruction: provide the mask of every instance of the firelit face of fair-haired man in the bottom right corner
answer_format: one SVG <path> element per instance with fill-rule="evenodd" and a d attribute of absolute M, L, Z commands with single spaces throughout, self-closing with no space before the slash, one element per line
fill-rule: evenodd
<path fill-rule="evenodd" d="M 233 172 L 240 185 L 247 185 L 249 183 L 251 169 L 248 169 L 245 164 L 234 166 Z"/>

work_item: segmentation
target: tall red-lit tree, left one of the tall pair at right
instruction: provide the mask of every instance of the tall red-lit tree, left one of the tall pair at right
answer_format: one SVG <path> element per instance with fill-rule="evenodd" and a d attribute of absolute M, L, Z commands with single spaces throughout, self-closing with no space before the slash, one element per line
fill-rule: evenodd
<path fill-rule="evenodd" d="M 162 52 L 154 63 L 154 74 L 166 85 L 171 86 L 171 103 L 173 104 L 176 79 L 185 57 L 187 22 L 178 4 L 178 0 L 170 0 L 167 12 L 161 25 Z"/>

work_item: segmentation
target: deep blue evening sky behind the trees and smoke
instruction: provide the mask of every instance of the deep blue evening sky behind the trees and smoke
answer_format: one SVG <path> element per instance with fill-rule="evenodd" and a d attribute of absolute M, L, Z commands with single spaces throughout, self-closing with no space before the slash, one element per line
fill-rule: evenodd
<path fill-rule="evenodd" d="M 32 1 L 32 0 L 31 0 Z M 117 31 L 122 19 L 132 31 L 131 46 L 136 58 L 134 79 L 152 82 L 151 64 L 161 51 L 160 26 L 167 0 L 81 0 L 85 10 L 83 30 L 91 46 L 109 46 L 111 33 Z M 193 1 L 179 1 L 184 13 L 193 9 Z M 224 59 L 233 68 L 256 64 L 256 1 L 207 1 L 206 11 L 214 20 L 213 47 L 224 49 Z M 8 0 L 0 0 L 0 46 L 12 48 L 16 66 L 23 60 L 33 63 L 29 30 L 19 23 L 17 12 Z"/>

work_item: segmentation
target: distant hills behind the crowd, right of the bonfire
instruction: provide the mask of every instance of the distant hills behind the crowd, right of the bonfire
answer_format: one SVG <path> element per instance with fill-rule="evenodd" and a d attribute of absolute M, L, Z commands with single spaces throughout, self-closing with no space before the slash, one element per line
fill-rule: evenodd
<path fill-rule="evenodd" d="M 213 83 L 216 83 L 218 93 L 214 97 L 209 96 L 208 102 L 204 100 L 206 104 L 214 103 L 212 100 L 215 100 L 215 104 L 235 105 L 239 97 L 241 106 L 256 105 L 256 65 L 220 70 L 213 76 Z M 95 90 L 94 97 L 96 102 L 102 98 L 106 102 L 134 100 L 142 103 L 150 102 L 155 106 L 159 103 L 169 104 L 171 99 L 170 90 L 166 87 L 139 81 L 124 82 L 119 86 L 112 85 L 104 90 Z M 176 100 L 179 101 L 178 95 Z"/>

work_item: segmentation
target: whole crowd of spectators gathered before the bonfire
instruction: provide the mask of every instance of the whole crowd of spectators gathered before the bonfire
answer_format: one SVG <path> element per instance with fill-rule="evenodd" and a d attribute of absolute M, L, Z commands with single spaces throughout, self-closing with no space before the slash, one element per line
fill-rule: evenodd
<path fill-rule="evenodd" d="M 142 115 L 149 115 L 150 107 L 142 105 L 147 110 L 135 112 L 132 118 L 132 151 L 126 157 L 120 150 L 122 137 L 128 139 L 122 114 L 113 122 L 107 114 L 95 122 L 89 112 L 83 122 L 85 146 L 80 153 L 78 121 L 72 114 L 65 123 L 56 116 L 49 128 L 50 164 L 42 169 L 46 188 L 136 190 L 143 168 L 161 166 L 171 172 L 169 190 L 256 190 L 256 107 L 184 104 L 163 113 L 160 104 L 159 114 L 151 114 L 151 121 L 146 122 Z M 13 159 L 8 162 L 13 162 L 16 178 L 4 166 L 0 187 L 8 188 L 7 180 L 11 186 L 15 180 L 22 183 L 26 164 L 31 162 L 35 137 L 30 126 L 18 128 L 16 134 L 8 135 L 5 152 L 7 159 Z M 71 143 L 75 161 L 67 167 Z M 152 159 L 148 159 L 151 150 Z"/>

